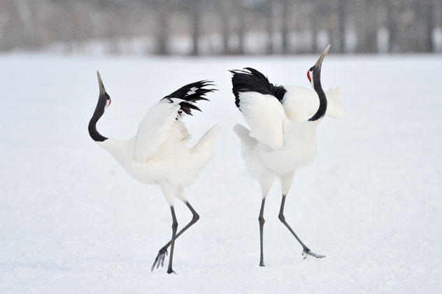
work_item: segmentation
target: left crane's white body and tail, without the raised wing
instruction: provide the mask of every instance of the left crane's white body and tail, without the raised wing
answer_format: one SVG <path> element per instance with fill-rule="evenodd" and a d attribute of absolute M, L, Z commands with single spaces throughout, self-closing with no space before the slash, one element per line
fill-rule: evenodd
<path fill-rule="evenodd" d="M 138 182 L 159 184 L 162 188 L 167 186 L 164 183 L 169 183 L 177 196 L 180 189 L 189 186 L 198 177 L 199 172 L 211 159 L 215 135 L 219 128 L 218 124 L 213 126 L 194 147 L 187 149 L 185 140 L 182 140 L 183 127 L 182 122 L 176 121 L 166 134 L 166 140 L 157 147 L 157 152 L 145 162 L 137 161 L 134 157 L 136 137 L 131 140 L 108 139 L 97 143 Z M 166 196 L 166 200 L 169 205 L 173 205 L 173 198 Z"/>

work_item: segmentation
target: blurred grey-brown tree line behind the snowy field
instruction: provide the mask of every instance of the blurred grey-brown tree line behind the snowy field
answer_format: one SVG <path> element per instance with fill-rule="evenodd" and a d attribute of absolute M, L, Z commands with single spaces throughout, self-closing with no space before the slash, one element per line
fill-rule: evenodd
<path fill-rule="evenodd" d="M 0 0 L 0 51 L 442 50 L 442 0 Z"/>

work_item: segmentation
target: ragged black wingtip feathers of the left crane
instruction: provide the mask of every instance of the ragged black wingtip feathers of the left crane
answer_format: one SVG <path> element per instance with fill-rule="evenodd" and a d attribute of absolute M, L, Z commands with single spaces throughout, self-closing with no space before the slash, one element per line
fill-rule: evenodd
<path fill-rule="evenodd" d="M 208 98 L 204 97 L 207 93 L 211 93 L 213 91 L 217 91 L 217 89 L 207 89 L 204 87 L 207 86 L 215 86 L 215 84 L 211 84 L 211 81 L 208 80 L 201 80 L 199 82 L 192 82 L 191 84 L 186 84 L 183 87 L 180 87 L 180 89 L 174 91 L 172 94 L 169 94 L 165 96 L 163 99 L 168 99 L 172 102 L 172 98 L 178 98 L 183 100 L 183 102 L 180 102 L 180 111 L 178 111 L 178 115 L 182 115 L 183 112 L 186 115 L 192 115 L 192 109 L 193 110 L 199 110 L 201 111 L 196 105 L 193 103 L 197 103 L 197 101 L 200 100 L 206 100 L 209 101 Z M 191 89 L 194 89 L 193 91 Z M 192 91 L 191 94 L 189 92 Z"/>

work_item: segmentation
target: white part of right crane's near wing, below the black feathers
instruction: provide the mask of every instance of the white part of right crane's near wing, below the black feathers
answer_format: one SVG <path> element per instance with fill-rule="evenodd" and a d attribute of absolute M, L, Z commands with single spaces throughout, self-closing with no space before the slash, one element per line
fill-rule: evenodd
<path fill-rule="evenodd" d="M 257 92 L 240 92 L 238 98 L 241 101 L 239 110 L 250 126 L 250 137 L 272 149 L 283 147 L 283 124 L 287 116 L 278 99 Z"/>

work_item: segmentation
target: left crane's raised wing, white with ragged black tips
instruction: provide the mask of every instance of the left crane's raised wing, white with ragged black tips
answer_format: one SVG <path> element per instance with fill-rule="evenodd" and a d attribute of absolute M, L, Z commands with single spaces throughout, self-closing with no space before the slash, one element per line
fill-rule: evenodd
<path fill-rule="evenodd" d="M 148 110 L 140 126 L 135 142 L 136 161 L 145 162 L 158 151 L 159 146 L 169 138 L 171 128 L 180 117 L 192 115 L 192 110 L 201 111 L 194 103 L 204 98 L 205 94 L 215 89 L 204 87 L 212 85 L 209 81 L 186 84 L 172 94 L 162 98 Z M 183 125 L 180 125 L 180 140 L 190 138 Z"/>

